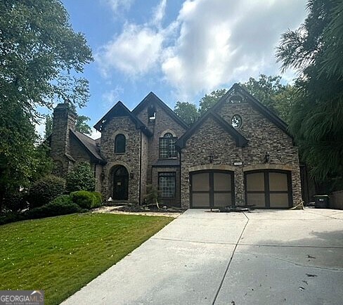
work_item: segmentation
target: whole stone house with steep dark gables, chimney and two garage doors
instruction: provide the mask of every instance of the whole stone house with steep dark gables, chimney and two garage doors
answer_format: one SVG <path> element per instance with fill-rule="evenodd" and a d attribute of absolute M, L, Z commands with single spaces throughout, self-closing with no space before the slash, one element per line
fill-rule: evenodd
<path fill-rule="evenodd" d="M 143 203 L 153 184 L 160 201 L 183 208 L 302 202 L 287 125 L 238 84 L 189 128 L 152 92 L 132 111 L 115 104 L 94 126 L 97 140 L 76 131 L 75 119 L 67 104 L 53 112 L 55 172 L 89 162 L 106 198 Z"/>

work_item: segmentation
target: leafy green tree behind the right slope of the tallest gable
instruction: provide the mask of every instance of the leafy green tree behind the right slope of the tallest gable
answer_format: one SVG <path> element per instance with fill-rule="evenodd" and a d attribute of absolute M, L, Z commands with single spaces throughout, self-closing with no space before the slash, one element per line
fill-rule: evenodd
<path fill-rule="evenodd" d="M 294 86 L 281 84 L 280 76 L 265 74 L 260 74 L 259 79 L 250 77 L 248 82 L 240 85 L 285 122 L 290 121 L 290 109 L 296 98 Z"/>

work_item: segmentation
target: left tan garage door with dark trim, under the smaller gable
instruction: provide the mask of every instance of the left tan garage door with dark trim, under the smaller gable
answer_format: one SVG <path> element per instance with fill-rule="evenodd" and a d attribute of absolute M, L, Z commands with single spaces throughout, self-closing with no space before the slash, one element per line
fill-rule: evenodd
<path fill-rule="evenodd" d="M 226 207 L 233 202 L 232 171 L 195 171 L 190 174 L 190 207 Z"/>

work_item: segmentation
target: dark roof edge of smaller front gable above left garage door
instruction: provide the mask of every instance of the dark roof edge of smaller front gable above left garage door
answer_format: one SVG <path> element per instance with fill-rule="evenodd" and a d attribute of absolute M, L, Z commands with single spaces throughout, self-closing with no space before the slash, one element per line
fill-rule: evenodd
<path fill-rule="evenodd" d="M 245 147 L 247 145 L 248 141 L 245 136 L 242 136 L 242 134 L 234 129 L 233 126 L 228 124 L 228 122 L 212 111 L 207 111 L 205 115 L 200 117 L 200 119 L 198 119 L 198 121 L 195 122 L 195 124 L 193 124 L 190 129 L 188 129 L 188 131 L 186 131 L 185 134 L 179 138 L 178 141 L 176 141 L 175 145 L 179 148 L 184 148 L 188 138 L 190 138 L 190 136 L 192 136 L 200 128 L 202 123 L 205 122 L 205 120 L 209 117 L 212 117 L 226 132 L 228 132 L 228 134 L 233 136 L 237 146 Z"/>

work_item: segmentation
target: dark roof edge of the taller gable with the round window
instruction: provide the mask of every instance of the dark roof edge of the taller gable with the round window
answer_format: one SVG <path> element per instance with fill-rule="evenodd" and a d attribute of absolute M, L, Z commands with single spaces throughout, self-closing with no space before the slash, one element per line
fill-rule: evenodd
<path fill-rule="evenodd" d="M 218 108 L 221 105 L 223 105 L 230 96 L 237 93 L 239 93 L 241 96 L 244 96 L 247 100 L 247 103 L 250 103 L 250 105 L 252 105 L 255 109 L 261 112 L 262 115 L 264 115 L 267 119 L 273 122 L 273 124 L 278 126 L 283 132 L 285 132 L 285 134 L 287 134 L 288 136 L 292 138 L 292 136 L 290 135 L 288 131 L 287 124 L 283 122 L 283 120 L 280 119 L 278 115 L 276 115 L 274 112 L 269 110 L 265 105 L 262 105 L 259 102 L 259 100 L 257 100 L 257 98 L 254 98 L 254 96 L 252 96 L 247 90 L 243 89 L 239 84 L 233 84 L 231 89 L 229 89 L 228 92 L 226 92 L 224 96 L 220 98 L 220 100 L 216 103 L 216 105 L 214 105 L 208 111 L 216 112 L 216 110 L 218 110 Z"/>

